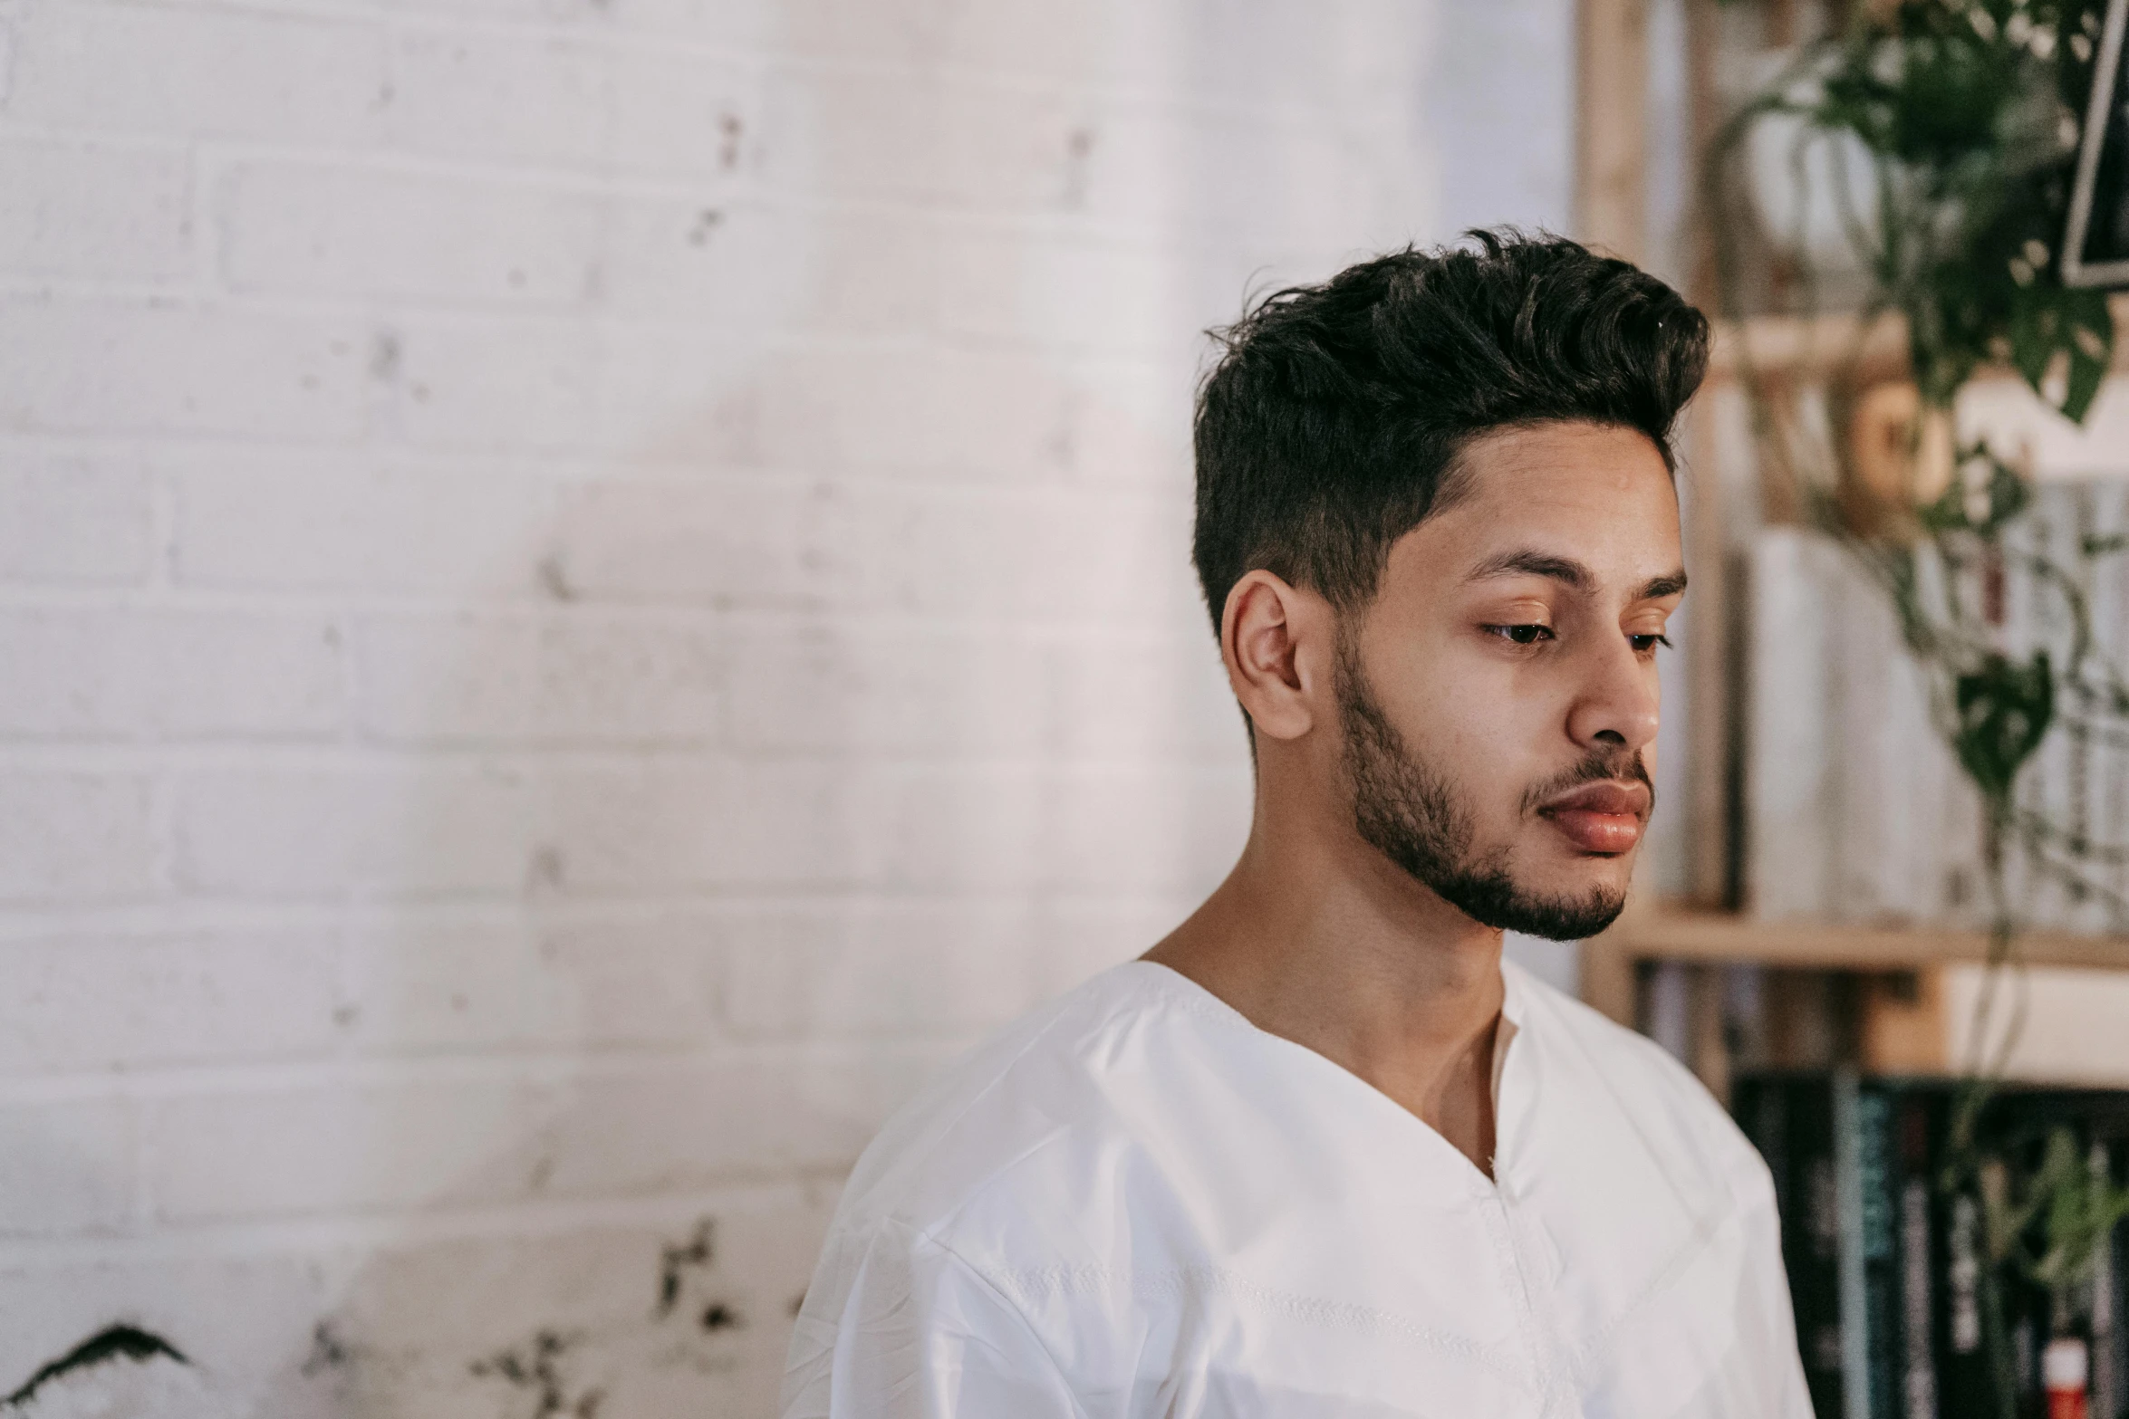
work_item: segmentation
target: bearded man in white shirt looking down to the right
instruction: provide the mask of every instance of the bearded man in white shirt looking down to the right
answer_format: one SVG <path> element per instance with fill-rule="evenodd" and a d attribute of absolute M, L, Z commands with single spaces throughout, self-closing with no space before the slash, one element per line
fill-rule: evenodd
<path fill-rule="evenodd" d="M 888 1123 L 788 1419 L 1810 1415 L 1765 1166 L 1501 959 L 1624 902 L 1707 323 L 1475 236 L 1226 332 L 1194 553 L 1248 847 Z"/>

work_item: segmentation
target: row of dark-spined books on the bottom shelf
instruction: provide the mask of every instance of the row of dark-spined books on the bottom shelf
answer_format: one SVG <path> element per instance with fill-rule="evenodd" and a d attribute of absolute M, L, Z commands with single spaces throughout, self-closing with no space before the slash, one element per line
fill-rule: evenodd
<path fill-rule="evenodd" d="M 1782 1215 L 1797 1345 L 1820 1419 L 1999 1419 L 1999 1376 L 2020 1419 L 2078 1404 L 2123 1419 L 2129 1396 L 2129 1230 L 2057 1289 L 1991 1262 L 1991 1187 L 2023 1196 L 2050 1134 L 2086 1166 L 2129 1176 L 2129 1091 L 2006 1087 L 1982 1113 L 1997 1159 L 1946 1168 L 1959 1081 L 1854 1070 L 1748 1072 L 1739 1125 L 1761 1149 Z M 2048 1249 L 2046 1211 L 2018 1238 Z M 2057 1410 L 2050 1410 L 2054 1404 Z"/>

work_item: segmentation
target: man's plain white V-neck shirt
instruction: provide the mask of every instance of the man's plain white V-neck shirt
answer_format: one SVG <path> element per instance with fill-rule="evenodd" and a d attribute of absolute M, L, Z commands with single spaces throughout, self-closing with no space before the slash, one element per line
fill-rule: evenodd
<path fill-rule="evenodd" d="M 858 1162 L 786 1419 L 1810 1419 L 1765 1164 L 1503 974 L 1495 1181 L 1165 966 L 1011 1025 Z"/>

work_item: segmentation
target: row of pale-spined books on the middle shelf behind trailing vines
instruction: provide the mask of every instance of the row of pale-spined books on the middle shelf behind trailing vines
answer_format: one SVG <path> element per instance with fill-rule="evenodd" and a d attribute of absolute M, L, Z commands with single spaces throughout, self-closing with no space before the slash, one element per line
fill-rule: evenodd
<path fill-rule="evenodd" d="M 2078 885 L 2018 845 L 2006 894 L 2033 928 L 2116 930 L 2129 902 L 2129 481 L 2031 489 L 2001 547 L 1914 549 L 1931 621 L 2014 666 L 2046 653 L 2061 677 L 2054 723 L 2014 785 L 2042 849 L 2082 855 Z M 2080 617 L 2074 604 L 2082 606 Z M 1986 928 L 1982 804 L 1946 742 L 1950 666 L 1922 666 L 1886 587 L 1833 538 L 1763 528 L 1750 549 L 1744 723 L 1744 885 L 1769 921 Z"/>

